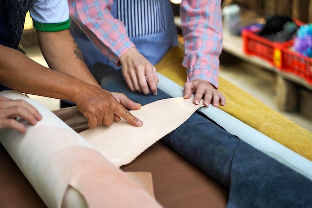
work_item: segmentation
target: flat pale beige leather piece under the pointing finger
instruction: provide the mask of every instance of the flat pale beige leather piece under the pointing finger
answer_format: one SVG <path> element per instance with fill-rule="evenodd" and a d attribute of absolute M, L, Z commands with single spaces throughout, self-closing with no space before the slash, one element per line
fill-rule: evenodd
<path fill-rule="evenodd" d="M 168 98 L 149 103 L 140 110 L 131 111 L 143 121 L 143 126 L 134 127 L 125 120 L 107 127 L 99 125 L 79 133 L 95 149 L 113 164 L 120 167 L 133 161 L 156 141 L 175 130 L 199 107 L 193 99 Z"/>

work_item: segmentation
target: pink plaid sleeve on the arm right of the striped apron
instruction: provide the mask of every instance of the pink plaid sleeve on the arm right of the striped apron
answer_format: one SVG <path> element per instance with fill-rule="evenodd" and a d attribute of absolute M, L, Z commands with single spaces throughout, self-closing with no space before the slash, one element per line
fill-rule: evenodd
<path fill-rule="evenodd" d="M 203 79 L 218 87 L 223 37 L 221 1 L 182 0 L 180 14 L 187 81 Z"/>

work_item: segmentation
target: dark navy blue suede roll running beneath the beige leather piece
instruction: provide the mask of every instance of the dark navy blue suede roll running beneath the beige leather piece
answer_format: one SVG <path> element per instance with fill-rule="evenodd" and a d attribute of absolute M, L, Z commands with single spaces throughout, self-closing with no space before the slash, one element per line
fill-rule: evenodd
<path fill-rule="evenodd" d="M 170 97 L 160 89 L 156 96 L 131 92 L 121 71 L 104 64 L 96 64 L 93 74 L 102 88 L 122 92 L 142 105 Z M 226 208 L 312 208 L 310 179 L 200 112 L 161 141 L 229 190 Z"/>

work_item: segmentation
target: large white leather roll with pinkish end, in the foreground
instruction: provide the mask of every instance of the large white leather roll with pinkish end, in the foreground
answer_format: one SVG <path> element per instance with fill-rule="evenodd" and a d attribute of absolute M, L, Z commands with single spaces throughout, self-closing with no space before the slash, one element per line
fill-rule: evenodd
<path fill-rule="evenodd" d="M 42 121 L 27 133 L 0 129 L 0 142 L 49 208 L 161 208 L 140 187 L 51 111 L 15 91 L 0 95 L 24 99 Z"/>

